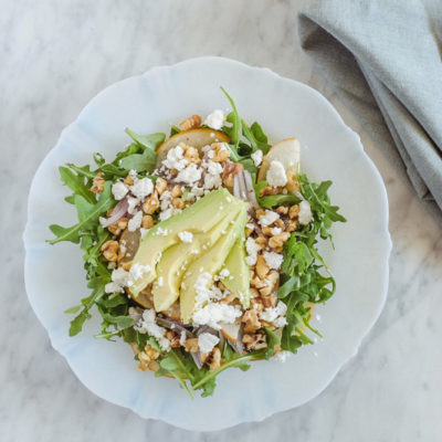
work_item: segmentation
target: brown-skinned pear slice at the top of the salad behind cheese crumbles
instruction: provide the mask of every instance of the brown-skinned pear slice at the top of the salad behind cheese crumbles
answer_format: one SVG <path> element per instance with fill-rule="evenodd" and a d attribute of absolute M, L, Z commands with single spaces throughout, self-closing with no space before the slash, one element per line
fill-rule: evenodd
<path fill-rule="evenodd" d="M 167 152 L 177 147 L 180 143 L 185 143 L 188 146 L 192 146 L 198 150 L 202 149 L 207 145 L 211 145 L 212 143 L 230 143 L 230 138 L 224 135 L 222 131 L 203 128 L 203 129 L 190 129 L 182 130 L 172 137 L 168 138 L 165 143 L 162 143 L 157 148 L 158 160 L 157 165 L 162 161 Z"/>

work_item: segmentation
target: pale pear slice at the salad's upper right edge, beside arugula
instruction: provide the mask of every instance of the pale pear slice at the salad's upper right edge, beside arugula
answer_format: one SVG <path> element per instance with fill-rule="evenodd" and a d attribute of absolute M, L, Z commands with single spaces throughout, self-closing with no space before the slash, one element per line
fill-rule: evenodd
<path fill-rule="evenodd" d="M 296 138 L 286 138 L 276 143 L 263 158 L 257 181 L 265 180 L 272 161 L 280 161 L 284 166 L 285 172 L 293 171 L 297 175 L 301 161 L 299 141 Z"/>

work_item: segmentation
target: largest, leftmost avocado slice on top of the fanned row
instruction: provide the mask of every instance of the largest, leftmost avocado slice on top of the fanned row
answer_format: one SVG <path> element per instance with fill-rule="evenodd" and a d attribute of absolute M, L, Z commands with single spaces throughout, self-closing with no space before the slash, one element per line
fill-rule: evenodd
<path fill-rule="evenodd" d="M 133 296 L 137 296 L 157 276 L 156 267 L 166 249 L 180 242 L 178 233 L 208 232 L 224 217 L 225 210 L 233 207 L 243 207 L 244 203 L 232 197 L 227 189 L 219 189 L 208 193 L 182 212 L 170 217 L 152 227 L 139 244 L 134 257 L 134 264 L 148 265 L 149 270 L 130 286 Z"/>

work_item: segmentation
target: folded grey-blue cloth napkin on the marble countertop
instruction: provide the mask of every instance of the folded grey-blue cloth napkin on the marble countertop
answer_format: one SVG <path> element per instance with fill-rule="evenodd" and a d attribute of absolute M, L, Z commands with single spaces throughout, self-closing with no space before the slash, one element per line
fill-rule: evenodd
<path fill-rule="evenodd" d="M 442 222 L 442 0 L 314 0 L 302 48 Z"/>

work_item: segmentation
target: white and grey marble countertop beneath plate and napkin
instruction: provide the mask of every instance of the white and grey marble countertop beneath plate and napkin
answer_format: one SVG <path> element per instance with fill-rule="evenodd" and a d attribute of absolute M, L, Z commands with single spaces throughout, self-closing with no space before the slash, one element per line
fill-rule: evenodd
<path fill-rule="evenodd" d="M 302 1 L 2 2 L 0 14 L 0 440 L 442 440 L 442 235 L 377 146 L 301 52 Z M 21 234 L 43 157 L 105 86 L 199 55 L 267 66 L 322 92 L 356 130 L 390 201 L 393 251 L 386 307 L 359 354 L 316 399 L 260 423 L 210 434 L 143 420 L 104 402 L 52 349 L 28 304 Z"/>

